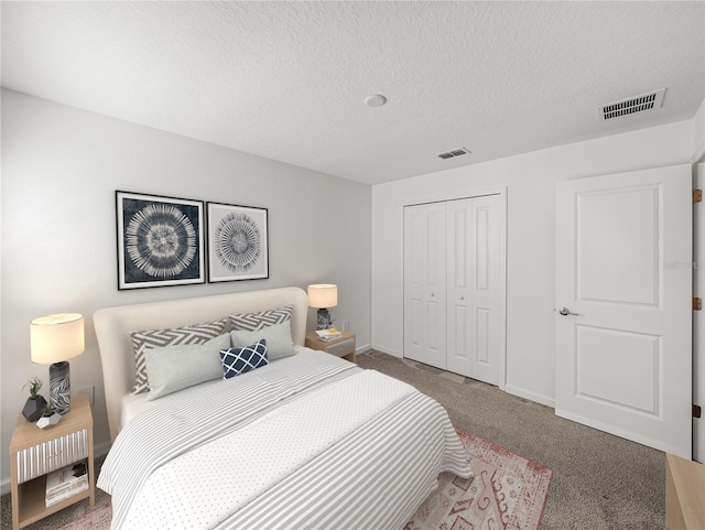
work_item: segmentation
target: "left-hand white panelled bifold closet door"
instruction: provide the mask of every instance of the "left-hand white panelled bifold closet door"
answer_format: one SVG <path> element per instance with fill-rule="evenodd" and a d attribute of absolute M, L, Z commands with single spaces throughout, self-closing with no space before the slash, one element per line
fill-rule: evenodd
<path fill-rule="evenodd" d="M 445 203 L 404 208 L 404 357 L 445 369 Z"/>

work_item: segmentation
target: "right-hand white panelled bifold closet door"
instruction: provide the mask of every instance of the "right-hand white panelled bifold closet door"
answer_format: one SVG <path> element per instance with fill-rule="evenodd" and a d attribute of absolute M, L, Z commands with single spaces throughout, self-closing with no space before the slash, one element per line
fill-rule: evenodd
<path fill-rule="evenodd" d="M 447 203 L 447 369 L 500 380 L 501 197 Z"/>

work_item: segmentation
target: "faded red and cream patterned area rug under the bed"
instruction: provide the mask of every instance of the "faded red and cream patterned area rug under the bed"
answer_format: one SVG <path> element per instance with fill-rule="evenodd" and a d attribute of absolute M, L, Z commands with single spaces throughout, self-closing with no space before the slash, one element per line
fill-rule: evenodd
<path fill-rule="evenodd" d="M 536 530 L 551 469 L 463 429 L 455 430 L 475 477 L 443 473 L 438 490 L 421 505 L 404 530 Z M 59 530 L 108 530 L 111 517 L 108 504 Z"/>

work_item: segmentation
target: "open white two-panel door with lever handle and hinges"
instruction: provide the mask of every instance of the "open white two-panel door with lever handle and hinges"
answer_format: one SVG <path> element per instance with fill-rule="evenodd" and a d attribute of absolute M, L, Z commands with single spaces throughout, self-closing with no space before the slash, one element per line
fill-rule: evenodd
<path fill-rule="evenodd" d="M 555 412 L 685 458 L 691 182 L 679 165 L 556 188 Z"/>

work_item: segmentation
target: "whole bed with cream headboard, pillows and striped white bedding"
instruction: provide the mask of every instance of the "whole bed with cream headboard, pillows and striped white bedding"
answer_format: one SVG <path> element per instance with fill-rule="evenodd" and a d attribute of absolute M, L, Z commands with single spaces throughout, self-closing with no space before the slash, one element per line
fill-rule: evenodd
<path fill-rule="evenodd" d="M 436 401 L 303 346 L 307 311 L 299 288 L 96 311 L 112 528 L 401 529 L 471 476 Z"/>

